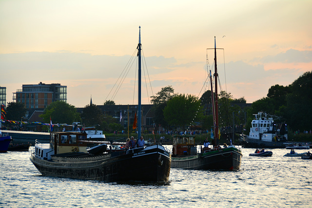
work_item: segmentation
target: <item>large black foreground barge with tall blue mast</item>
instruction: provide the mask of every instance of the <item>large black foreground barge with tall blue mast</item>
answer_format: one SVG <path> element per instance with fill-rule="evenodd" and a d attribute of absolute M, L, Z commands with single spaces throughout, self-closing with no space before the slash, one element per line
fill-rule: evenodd
<path fill-rule="evenodd" d="M 140 32 L 137 49 L 140 77 Z M 138 81 L 140 86 L 141 80 L 138 79 Z M 138 112 L 141 112 L 140 96 Z M 140 116 L 141 113 L 138 113 L 138 138 L 141 135 Z M 104 153 L 100 152 L 102 149 L 99 148 L 100 151 L 92 152 L 91 150 L 92 153 L 89 153 L 87 144 L 91 141 L 88 140 L 86 132 L 51 132 L 50 143 L 36 143 L 30 160 L 45 176 L 97 181 L 167 182 L 169 180 L 171 155 L 170 151 L 161 145 L 154 144 L 124 151 L 111 149 Z M 108 141 L 97 141 L 97 143 L 110 144 Z M 110 145 L 113 144 L 112 142 Z M 90 151 L 89 148 L 88 150 Z"/>

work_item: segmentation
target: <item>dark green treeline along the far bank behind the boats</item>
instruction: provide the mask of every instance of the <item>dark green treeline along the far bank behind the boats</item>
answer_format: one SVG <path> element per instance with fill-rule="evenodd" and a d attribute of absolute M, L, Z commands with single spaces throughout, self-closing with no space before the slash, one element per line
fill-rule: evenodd
<path fill-rule="evenodd" d="M 166 86 L 155 96 L 152 96 L 152 111 L 154 122 L 165 129 L 201 129 L 213 128 L 211 91 L 206 91 L 200 98 L 195 95 L 175 93 L 172 86 Z M 263 97 L 246 107 L 244 97 L 234 98 L 231 93 L 221 91 L 218 95 L 219 127 L 244 125 L 249 131 L 254 113 L 265 112 L 281 117 L 282 122 L 288 123 L 289 129 L 309 131 L 312 129 L 312 72 L 306 72 L 289 86 L 274 85 Z M 115 105 L 112 100 L 104 105 Z M 21 120 L 26 109 L 22 103 L 8 103 L 6 119 Z M 122 131 L 119 120 L 112 116 L 103 115 L 97 105 L 86 105 L 82 113 L 77 113 L 76 107 L 65 102 L 56 101 L 50 104 L 42 115 L 44 122 L 72 124 L 81 122 L 85 126 L 96 126 L 104 132 Z M 132 125 L 132 124 L 129 124 Z"/>

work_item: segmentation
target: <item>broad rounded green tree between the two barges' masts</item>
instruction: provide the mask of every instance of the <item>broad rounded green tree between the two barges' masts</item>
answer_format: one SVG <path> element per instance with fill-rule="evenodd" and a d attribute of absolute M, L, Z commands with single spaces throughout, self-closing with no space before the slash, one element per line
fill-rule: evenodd
<path fill-rule="evenodd" d="M 168 100 L 163 113 L 169 125 L 185 127 L 202 118 L 202 107 L 196 96 L 180 94 Z"/>

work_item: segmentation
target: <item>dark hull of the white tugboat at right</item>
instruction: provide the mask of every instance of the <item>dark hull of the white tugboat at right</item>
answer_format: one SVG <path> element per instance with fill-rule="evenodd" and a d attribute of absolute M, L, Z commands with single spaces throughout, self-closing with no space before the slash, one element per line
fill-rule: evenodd
<path fill-rule="evenodd" d="M 262 141 L 259 139 L 250 139 L 247 136 L 245 136 L 242 143 L 242 147 L 244 148 L 265 148 L 265 149 L 275 149 L 275 148 L 285 148 L 287 145 L 292 144 L 288 141 Z"/>

